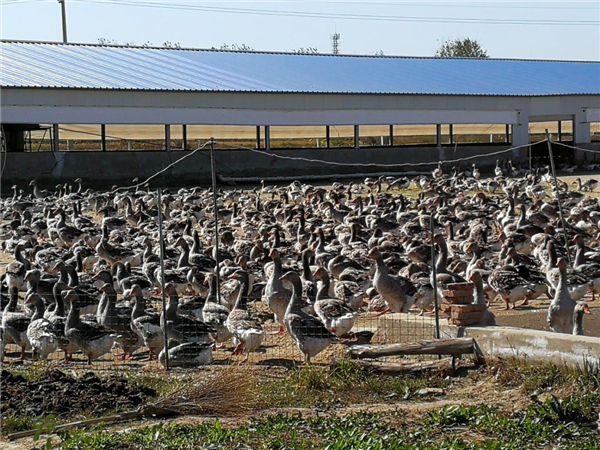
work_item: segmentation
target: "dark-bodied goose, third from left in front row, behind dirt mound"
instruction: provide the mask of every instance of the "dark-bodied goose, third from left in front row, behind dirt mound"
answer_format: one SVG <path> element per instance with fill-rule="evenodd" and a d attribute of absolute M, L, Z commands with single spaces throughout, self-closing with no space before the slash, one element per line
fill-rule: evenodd
<path fill-rule="evenodd" d="M 118 335 L 100 324 L 79 319 L 79 296 L 73 289 L 65 292 L 64 299 L 71 304 L 65 323 L 65 337 L 79 347 L 87 357 L 88 365 L 91 365 L 93 360 L 110 352 Z"/>

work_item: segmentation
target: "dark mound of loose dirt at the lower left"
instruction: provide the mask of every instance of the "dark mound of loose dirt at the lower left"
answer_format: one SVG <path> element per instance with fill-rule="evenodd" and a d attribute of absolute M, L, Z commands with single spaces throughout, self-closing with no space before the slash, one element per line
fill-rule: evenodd
<path fill-rule="evenodd" d="M 129 384 L 119 377 L 100 379 L 92 372 L 73 378 L 53 370 L 39 381 L 27 381 L 3 370 L 0 385 L 0 414 L 19 416 L 67 417 L 82 412 L 98 415 L 114 409 L 135 409 L 156 396 L 151 388 Z"/>

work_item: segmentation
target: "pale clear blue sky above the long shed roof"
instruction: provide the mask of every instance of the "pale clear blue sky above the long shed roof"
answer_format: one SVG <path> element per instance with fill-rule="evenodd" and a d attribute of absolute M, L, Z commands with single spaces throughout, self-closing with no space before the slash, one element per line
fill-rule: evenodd
<path fill-rule="evenodd" d="M 600 0 L 65 0 L 69 42 L 432 56 L 476 39 L 490 57 L 600 60 Z M 0 38 L 61 41 L 56 0 L 0 0 Z"/>

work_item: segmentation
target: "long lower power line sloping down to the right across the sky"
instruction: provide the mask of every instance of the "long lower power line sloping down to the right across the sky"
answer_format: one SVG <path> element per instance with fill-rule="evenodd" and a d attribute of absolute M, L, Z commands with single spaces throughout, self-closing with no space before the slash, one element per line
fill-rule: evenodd
<path fill-rule="evenodd" d="M 470 23 L 486 25 L 600 25 L 600 21 L 587 20 L 548 20 L 548 19 L 493 19 L 493 18 L 460 18 L 460 17 L 422 17 L 422 16 L 390 16 L 375 14 L 320 13 L 307 11 L 281 11 L 272 9 L 226 8 L 216 6 L 193 6 L 178 3 L 159 3 L 148 0 L 76 0 L 85 3 L 98 3 L 115 6 L 135 6 L 142 8 L 172 9 L 186 11 L 204 11 L 227 14 L 247 14 L 278 17 L 304 17 L 313 19 L 371 20 L 385 22 L 428 22 L 428 23 Z"/>

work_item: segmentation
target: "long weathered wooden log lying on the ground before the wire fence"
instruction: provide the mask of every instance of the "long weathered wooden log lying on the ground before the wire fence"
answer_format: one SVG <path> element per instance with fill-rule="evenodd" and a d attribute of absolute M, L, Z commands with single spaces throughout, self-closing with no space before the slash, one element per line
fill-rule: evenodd
<path fill-rule="evenodd" d="M 468 355 L 473 353 L 472 338 L 425 340 L 386 345 L 355 345 L 348 349 L 353 359 L 408 355 Z"/>

